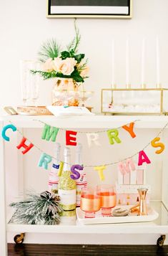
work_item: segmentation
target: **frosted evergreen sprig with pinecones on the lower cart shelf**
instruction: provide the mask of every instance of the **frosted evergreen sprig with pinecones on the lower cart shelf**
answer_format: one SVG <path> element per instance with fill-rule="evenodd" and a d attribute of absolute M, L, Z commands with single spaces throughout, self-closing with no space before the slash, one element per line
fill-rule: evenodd
<path fill-rule="evenodd" d="M 63 209 L 59 204 L 60 198 L 58 195 L 51 194 L 49 191 L 44 191 L 40 195 L 26 195 L 29 196 L 28 199 L 10 204 L 10 207 L 14 207 L 16 212 L 14 212 L 9 223 L 39 225 L 59 224 Z"/>

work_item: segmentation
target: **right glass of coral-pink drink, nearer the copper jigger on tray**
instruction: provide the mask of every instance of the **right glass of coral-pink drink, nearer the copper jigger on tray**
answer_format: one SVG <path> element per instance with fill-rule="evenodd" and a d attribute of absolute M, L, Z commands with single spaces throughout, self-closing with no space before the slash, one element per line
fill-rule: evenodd
<path fill-rule="evenodd" d="M 116 206 L 114 186 L 107 184 L 97 185 L 97 195 L 101 196 L 102 215 L 112 215 L 112 208 Z"/>

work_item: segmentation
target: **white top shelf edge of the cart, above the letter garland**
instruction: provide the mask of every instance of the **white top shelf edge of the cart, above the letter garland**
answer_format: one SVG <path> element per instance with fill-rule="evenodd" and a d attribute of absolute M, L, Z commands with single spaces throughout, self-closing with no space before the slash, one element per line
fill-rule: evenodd
<path fill-rule="evenodd" d="M 138 120 L 135 128 L 162 128 L 168 122 L 168 117 L 164 115 L 69 115 L 60 117 L 54 115 L 9 115 L 0 118 L 0 120 L 6 123 L 11 121 L 11 123 L 21 128 L 41 128 L 43 124 L 38 122 L 38 120 L 41 120 L 58 128 L 108 129 L 117 128 L 134 120 Z"/>

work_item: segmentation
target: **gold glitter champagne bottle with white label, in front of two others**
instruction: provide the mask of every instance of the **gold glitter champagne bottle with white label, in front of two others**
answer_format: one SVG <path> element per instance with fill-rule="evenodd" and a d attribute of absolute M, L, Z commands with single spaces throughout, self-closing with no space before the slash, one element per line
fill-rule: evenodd
<path fill-rule="evenodd" d="M 76 209 L 76 181 L 71 179 L 70 148 L 64 149 L 64 167 L 59 177 L 58 193 L 64 211 Z"/>

